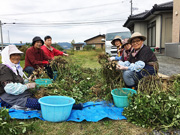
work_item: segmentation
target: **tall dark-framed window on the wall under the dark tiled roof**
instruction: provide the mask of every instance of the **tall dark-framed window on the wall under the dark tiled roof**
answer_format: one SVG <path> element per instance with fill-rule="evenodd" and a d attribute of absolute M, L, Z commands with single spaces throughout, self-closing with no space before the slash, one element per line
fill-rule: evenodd
<path fill-rule="evenodd" d="M 156 22 L 148 24 L 148 46 L 156 47 Z"/>

